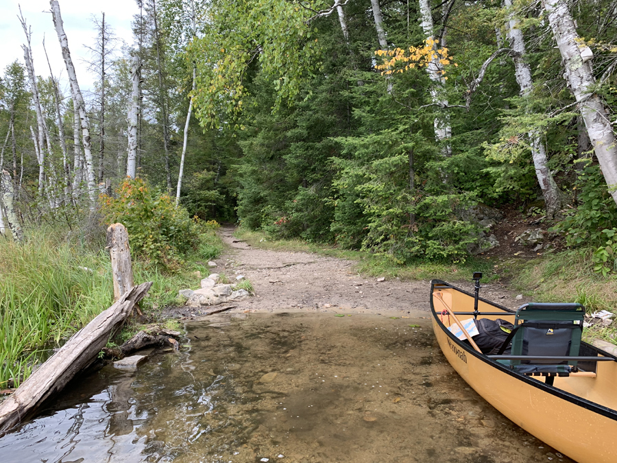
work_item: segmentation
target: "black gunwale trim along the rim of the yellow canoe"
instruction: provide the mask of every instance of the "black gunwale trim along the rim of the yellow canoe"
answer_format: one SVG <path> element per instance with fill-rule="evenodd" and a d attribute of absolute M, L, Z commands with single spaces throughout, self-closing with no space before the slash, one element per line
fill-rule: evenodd
<path fill-rule="evenodd" d="M 455 343 L 459 348 L 461 348 L 463 351 L 465 351 L 465 353 L 467 355 L 471 355 L 473 357 L 476 357 L 476 359 L 479 359 L 481 361 L 483 361 L 485 364 L 489 364 L 489 366 L 492 366 L 493 368 L 496 368 L 496 370 L 500 371 L 500 372 L 504 372 L 507 375 L 510 375 L 511 377 L 514 377 L 520 381 L 523 381 L 524 383 L 527 383 L 529 385 L 532 385 L 534 388 L 538 388 L 540 390 L 543 390 L 544 392 L 551 394 L 553 396 L 557 396 L 559 397 L 559 399 L 563 399 L 566 400 L 574 405 L 578 405 L 579 407 L 583 407 L 585 409 L 588 409 L 592 412 L 601 414 L 603 416 L 606 416 L 607 418 L 611 418 L 612 420 L 616 420 L 617 421 L 617 411 L 608 407 L 605 407 L 603 405 L 599 405 L 598 403 L 592 402 L 592 401 L 588 401 L 586 399 L 582 399 L 579 396 L 576 396 L 574 394 L 570 394 L 570 392 L 566 392 L 564 390 L 555 388 L 552 385 L 547 385 L 546 383 L 543 383 L 541 381 L 537 381 L 537 379 L 532 379 L 531 377 L 527 377 L 526 375 L 522 375 L 521 373 L 518 373 L 514 370 L 511 370 L 510 368 L 507 368 L 507 366 L 498 363 L 497 361 L 494 361 L 493 359 L 489 358 L 487 355 L 483 354 L 483 353 L 479 353 L 477 351 L 474 350 L 474 348 L 472 348 L 472 346 L 465 344 L 464 342 L 462 342 L 461 340 L 459 340 L 458 337 L 456 337 L 455 335 L 452 335 L 452 333 L 450 332 L 450 330 L 448 330 L 448 327 L 446 327 L 446 325 L 441 322 L 441 320 L 439 319 L 439 316 L 437 314 L 437 311 L 435 310 L 435 306 L 433 305 L 433 290 L 435 289 L 435 284 L 439 284 L 439 285 L 447 285 L 447 287 L 444 287 L 444 289 L 455 289 L 458 292 L 461 292 L 463 294 L 466 294 L 467 296 L 470 296 L 472 298 L 474 298 L 474 294 L 465 291 L 464 289 L 460 289 L 459 287 L 456 287 L 454 285 L 451 285 L 450 283 L 446 283 L 445 281 L 442 280 L 433 280 L 431 281 L 431 313 L 433 314 L 433 318 L 435 319 L 435 321 L 437 322 L 437 325 L 441 328 L 441 331 L 444 332 L 444 334 L 446 334 L 451 342 Z M 497 304 L 496 302 L 492 302 L 490 300 L 487 300 L 485 298 L 479 298 L 479 300 L 491 305 L 492 307 L 498 307 L 499 309 L 507 312 L 505 313 L 505 315 L 509 315 L 510 313 L 516 313 L 516 311 L 513 311 L 512 309 L 508 309 L 507 307 L 503 307 L 499 304 Z M 454 310 L 454 307 L 452 307 L 452 310 Z M 472 312 L 468 312 L 470 314 L 472 314 Z M 612 359 L 617 361 L 617 356 L 612 355 L 610 353 L 607 353 L 605 351 L 603 351 L 601 348 L 597 348 L 596 346 L 592 346 L 591 344 L 588 344 L 586 342 L 581 342 L 581 344 L 585 344 L 585 346 L 588 346 L 589 348 L 591 348 L 593 351 L 596 351 L 598 354 L 601 354 L 605 357 L 611 357 Z M 441 348 L 441 346 L 439 346 Z"/>

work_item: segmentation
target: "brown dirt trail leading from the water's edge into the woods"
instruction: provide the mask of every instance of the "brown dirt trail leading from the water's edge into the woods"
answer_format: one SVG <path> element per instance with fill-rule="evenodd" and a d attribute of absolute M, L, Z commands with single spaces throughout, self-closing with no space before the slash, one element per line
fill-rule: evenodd
<path fill-rule="evenodd" d="M 429 281 L 386 278 L 379 282 L 376 277 L 356 272 L 352 261 L 309 252 L 256 249 L 233 233 L 232 227 L 221 228 L 227 249 L 216 259 L 218 266 L 212 271 L 226 274 L 230 281 L 243 275 L 256 292 L 256 296 L 233 302 L 233 312 L 428 312 Z M 473 287 L 470 282 L 457 285 L 470 291 Z M 516 292 L 500 284 L 486 285 L 481 294 L 511 308 L 526 302 L 516 300 Z M 183 318 L 199 318 L 199 311 L 186 307 L 176 310 Z"/>

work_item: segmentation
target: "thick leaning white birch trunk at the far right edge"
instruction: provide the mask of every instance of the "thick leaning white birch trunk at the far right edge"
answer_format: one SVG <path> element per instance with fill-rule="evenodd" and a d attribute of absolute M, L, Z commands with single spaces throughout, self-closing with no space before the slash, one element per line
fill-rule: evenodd
<path fill-rule="evenodd" d="M 581 108 L 581 115 L 613 200 L 617 203 L 617 145 L 602 99 L 593 91 L 592 52 L 580 47 L 574 21 L 564 0 L 543 0 L 553 35 L 564 60 L 566 80 Z"/>

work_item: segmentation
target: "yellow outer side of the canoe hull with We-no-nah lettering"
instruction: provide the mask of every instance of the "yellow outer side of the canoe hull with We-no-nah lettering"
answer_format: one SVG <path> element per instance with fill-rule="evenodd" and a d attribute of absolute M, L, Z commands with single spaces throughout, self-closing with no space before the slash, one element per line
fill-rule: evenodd
<path fill-rule="evenodd" d="M 451 335 L 434 309 L 433 329 L 450 365 L 513 423 L 579 463 L 617 462 L 614 411 L 598 412 L 595 404 L 519 375 L 472 351 Z"/>

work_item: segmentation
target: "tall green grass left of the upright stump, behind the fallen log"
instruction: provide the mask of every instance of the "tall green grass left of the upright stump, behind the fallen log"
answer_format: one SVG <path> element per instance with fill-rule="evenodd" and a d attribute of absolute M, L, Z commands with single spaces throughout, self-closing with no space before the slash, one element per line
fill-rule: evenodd
<path fill-rule="evenodd" d="M 101 263 L 101 252 L 53 233 L 29 233 L 23 244 L 0 237 L 0 388 L 9 378 L 19 384 L 36 350 L 60 344 L 110 305 Z"/>

